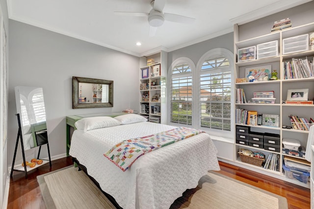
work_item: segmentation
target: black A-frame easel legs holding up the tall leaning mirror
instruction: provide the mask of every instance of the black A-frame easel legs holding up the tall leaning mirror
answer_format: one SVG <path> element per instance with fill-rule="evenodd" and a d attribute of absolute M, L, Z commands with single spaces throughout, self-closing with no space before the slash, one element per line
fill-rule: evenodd
<path fill-rule="evenodd" d="M 17 171 L 17 172 L 25 172 L 25 178 L 27 179 L 27 168 L 26 168 L 26 160 L 25 160 L 25 152 L 24 152 L 24 143 L 23 143 L 23 137 L 22 137 L 21 119 L 20 119 L 20 114 L 15 114 L 15 115 L 18 117 L 19 130 L 18 130 L 18 136 L 17 136 L 16 143 L 15 143 L 14 157 L 13 157 L 10 177 L 12 177 L 13 171 Z M 14 163 L 15 163 L 15 158 L 16 158 L 16 152 L 17 152 L 18 145 L 19 145 L 19 139 L 21 141 L 22 156 L 23 156 L 23 163 L 24 163 L 24 171 L 23 170 L 14 169 Z M 39 159 L 41 146 L 42 145 L 39 146 L 37 159 Z M 51 158 L 50 158 L 50 150 L 49 150 L 48 140 L 47 140 L 47 148 L 48 148 L 49 164 L 50 164 L 50 167 L 51 167 L 52 163 L 51 163 Z"/>

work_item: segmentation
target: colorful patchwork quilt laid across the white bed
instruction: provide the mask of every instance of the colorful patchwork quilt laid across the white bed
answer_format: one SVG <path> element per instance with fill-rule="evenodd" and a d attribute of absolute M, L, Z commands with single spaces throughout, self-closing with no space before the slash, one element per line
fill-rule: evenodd
<path fill-rule="evenodd" d="M 193 128 L 178 127 L 146 137 L 127 139 L 114 145 L 104 156 L 121 170 L 126 171 L 140 156 L 203 132 Z"/>

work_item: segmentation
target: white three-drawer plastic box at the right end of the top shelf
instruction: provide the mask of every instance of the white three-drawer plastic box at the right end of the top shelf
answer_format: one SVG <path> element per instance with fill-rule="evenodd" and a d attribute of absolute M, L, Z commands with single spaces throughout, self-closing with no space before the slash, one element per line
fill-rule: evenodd
<path fill-rule="evenodd" d="M 309 50 L 309 34 L 283 39 L 283 54 Z"/>

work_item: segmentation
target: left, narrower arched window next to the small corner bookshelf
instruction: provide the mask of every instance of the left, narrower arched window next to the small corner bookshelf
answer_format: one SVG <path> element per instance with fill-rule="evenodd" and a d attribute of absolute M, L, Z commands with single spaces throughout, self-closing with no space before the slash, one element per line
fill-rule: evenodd
<path fill-rule="evenodd" d="M 192 125 L 192 71 L 194 63 L 180 58 L 168 70 L 170 83 L 170 123 Z"/>

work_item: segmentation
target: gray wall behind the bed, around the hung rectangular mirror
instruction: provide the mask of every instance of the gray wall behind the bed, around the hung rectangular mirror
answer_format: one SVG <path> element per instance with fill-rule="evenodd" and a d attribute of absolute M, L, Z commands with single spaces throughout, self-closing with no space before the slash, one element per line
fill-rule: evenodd
<path fill-rule="evenodd" d="M 9 25 L 9 166 L 18 131 L 15 86 L 43 88 L 50 151 L 56 158 L 66 153 L 66 116 L 138 107 L 138 57 L 13 20 Z M 72 76 L 113 80 L 113 108 L 72 109 Z M 26 158 L 34 157 L 36 149 L 27 150 Z M 42 150 L 41 157 L 47 157 L 46 145 Z"/>

